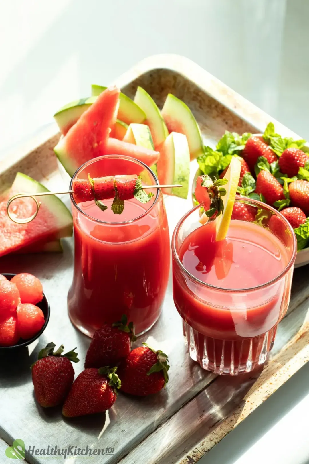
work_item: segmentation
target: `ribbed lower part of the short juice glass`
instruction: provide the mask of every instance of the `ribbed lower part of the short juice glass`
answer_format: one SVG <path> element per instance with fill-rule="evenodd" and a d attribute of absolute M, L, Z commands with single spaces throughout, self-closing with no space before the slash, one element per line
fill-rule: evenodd
<path fill-rule="evenodd" d="M 265 334 L 242 340 L 219 340 L 197 332 L 183 321 L 190 357 L 215 374 L 238 375 L 263 364 L 270 352 L 277 325 Z"/>

